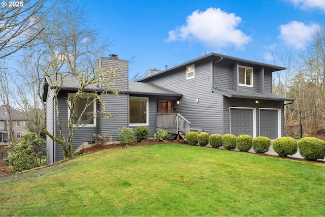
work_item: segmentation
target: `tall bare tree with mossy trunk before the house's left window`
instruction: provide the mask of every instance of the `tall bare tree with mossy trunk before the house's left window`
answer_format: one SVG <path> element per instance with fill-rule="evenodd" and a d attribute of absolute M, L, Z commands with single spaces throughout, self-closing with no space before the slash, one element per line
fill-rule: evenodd
<path fill-rule="evenodd" d="M 41 43 L 33 52 L 37 59 L 37 72 L 39 76 L 46 77 L 56 107 L 59 105 L 58 96 L 65 82 L 73 78 L 76 83 L 75 94 L 68 96 L 66 100 L 69 118 L 59 119 L 59 109 L 56 109 L 56 127 L 60 137 L 57 138 L 44 128 L 46 134 L 61 145 L 65 159 L 72 156 L 73 136 L 80 126 L 98 115 L 111 117 L 105 111 L 102 95 L 108 92 L 117 94 L 119 90 L 111 88 L 111 85 L 116 72 L 123 67 L 117 65 L 110 70 L 98 68 L 97 59 L 100 55 L 105 55 L 110 43 L 98 43 L 99 35 L 87 25 L 85 17 L 83 9 L 71 2 L 69 7 L 53 10 L 42 20 L 44 30 L 38 37 Z M 90 87 L 92 91 L 87 91 Z M 83 101 L 84 108 L 81 114 L 76 116 L 78 101 Z M 89 115 L 87 108 L 96 102 L 102 104 L 102 111 L 100 114 L 94 111 Z M 67 128 L 68 135 L 64 134 Z"/>

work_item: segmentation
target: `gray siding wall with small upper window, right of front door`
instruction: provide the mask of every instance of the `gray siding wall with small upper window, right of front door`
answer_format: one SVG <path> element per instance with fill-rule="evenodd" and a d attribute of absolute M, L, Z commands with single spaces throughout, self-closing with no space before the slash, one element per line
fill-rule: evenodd
<path fill-rule="evenodd" d="M 191 65 L 191 64 L 188 64 Z M 147 83 L 180 92 L 180 105 L 174 104 L 174 113 L 180 113 L 191 122 L 191 128 L 203 129 L 208 133 L 222 131 L 222 97 L 212 93 L 212 63 L 201 61 L 194 66 L 195 76 L 186 80 L 186 66 L 176 69 L 168 77 L 151 78 Z M 200 102 L 197 103 L 196 99 Z"/>

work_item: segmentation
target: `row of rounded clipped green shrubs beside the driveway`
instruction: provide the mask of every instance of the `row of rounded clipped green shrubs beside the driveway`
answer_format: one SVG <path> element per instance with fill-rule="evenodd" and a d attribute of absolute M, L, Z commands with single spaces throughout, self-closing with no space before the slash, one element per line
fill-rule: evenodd
<path fill-rule="evenodd" d="M 265 153 L 270 149 L 271 139 L 264 136 L 252 138 L 248 135 L 239 135 L 236 137 L 233 134 L 209 134 L 189 132 L 186 134 L 186 141 L 190 145 L 196 145 L 199 143 L 200 146 L 205 146 L 208 143 L 214 148 L 223 146 L 225 149 L 238 148 L 239 151 L 248 151 L 251 148 L 256 153 Z M 302 157 L 307 160 L 316 161 L 318 159 L 325 158 L 325 141 L 314 138 L 305 137 L 299 142 L 291 137 L 277 138 L 273 142 L 273 149 L 281 157 L 293 155 L 299 153 Z"/>

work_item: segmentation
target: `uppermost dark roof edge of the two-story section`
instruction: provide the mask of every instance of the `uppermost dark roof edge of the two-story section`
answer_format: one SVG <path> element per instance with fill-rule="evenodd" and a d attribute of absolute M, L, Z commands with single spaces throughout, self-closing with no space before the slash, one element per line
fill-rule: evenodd
<path fill-rule="evenodd" d="M 264 63 L 258 63 L 256 61 L 251 61 L 251 60 L 247 60 L 247 59 L 241 59 L 241 58 L 236 58 L 236 57 L 233 57 L 233 56 L 227 56 L 227 55 L 223 55 L 223 54 L 218 54 L 218 53 L 209 53 L 207 55 L 204 55 L 204 56 L 201 56 L 199 58 L 196 58 L 196 59 L 192 59 L 190 61 L 187 61 L 186 63 L 183 63 L 181 65 L 178 65 L 178 66 L 175 66 L 175 67 L 172 67 L 172 68 L 169 68 L 169 69 L 166 69 L 164 71 L 161 71 L 161 72 L 158 72 L 156 74 L 153 74 L 153 75 L 150 75 L 150 76 L 147 76 L 145 78 L 141 78 L 137 81 L 145 81 L 151 77 L 154 77 L 154 76 L 159 76 L 163 73 L 168 73 L 168 72 L 171 72 L 173 71 L 174 69 L 177 69 L 179 67 L 182 67 L 182 66 L 188 66 L 190 64 L 193 64 L 194 62 L 196 61 L 199 61 L 199 60 L 202 60 L 202 59 L 206 59 L 206 58 L 211 58 L 211 57 L 219 57 L 220 59 L 222 58 L 226 58 L 226 59 L 232 59 L 232 60 L 236 60 L 236 61 L 240 61 L 240 62 L 243 62 L 243 63 L 249 63 L 249 64 L 254 64 L 254 65 L 259 65 L 259 66 L 265 66 L 265 67 L 270 67 L 273 69 L 274 72 L 276 71 L 280 71 L 280 70 L 285 70 L 286 68 L 285 67 L 279 67 L 279 66 L 274 66 L 274 65 L 270 65 L 270 64 L 264 64 Z"/>

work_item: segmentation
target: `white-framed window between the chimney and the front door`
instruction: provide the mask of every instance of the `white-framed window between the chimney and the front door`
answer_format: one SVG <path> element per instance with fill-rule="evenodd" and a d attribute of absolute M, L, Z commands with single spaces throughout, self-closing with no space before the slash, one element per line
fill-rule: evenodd
<path fill-rule="evenodd" d="M 129 97 L 129 126 L 149 125 L 149 98 Z"/>

